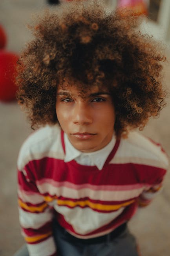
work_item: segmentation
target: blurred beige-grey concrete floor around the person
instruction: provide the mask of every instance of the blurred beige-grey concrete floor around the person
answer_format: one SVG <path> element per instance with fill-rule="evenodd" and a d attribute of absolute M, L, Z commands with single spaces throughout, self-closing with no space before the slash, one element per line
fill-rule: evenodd
<path fill-rule="evenodd" d="M 45 0 L 0 0 L 0 23 L 7 36 L 7 49 L 20 52 L 31 34 L 26 28 L 34 13 L 46 7 Z M 170 59 L 170 53 L 167 52 Z M 170 65 L 165 65 L 165 84 L 169 91 Z M 170 93 L 169 93 L 170 95 Z M 31 132 L 16 102 L 0 103 L 0 256 L 12 256 L 24 240 L 20 235 L 16 198 L 16 159 L 18 150 Z M 160 142 L 170 155 L 170 99 L 159 119 L 152 119 L 143 133 Z M 130 221 L 143 256 L 170 256 L 170 173 L 162 193 L 150 206 Z"/>

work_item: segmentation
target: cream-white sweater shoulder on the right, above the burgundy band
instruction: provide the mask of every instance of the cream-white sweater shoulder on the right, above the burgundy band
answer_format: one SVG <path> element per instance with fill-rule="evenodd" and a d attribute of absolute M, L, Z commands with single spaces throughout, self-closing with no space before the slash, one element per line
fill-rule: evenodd
<path fill-rule="evenodd" d="M 167 169 L 168 156 L 159 143 L 138 132 L 130 132 L 127 139 L 121 139 L 114 162 L 139 163 Z"/>

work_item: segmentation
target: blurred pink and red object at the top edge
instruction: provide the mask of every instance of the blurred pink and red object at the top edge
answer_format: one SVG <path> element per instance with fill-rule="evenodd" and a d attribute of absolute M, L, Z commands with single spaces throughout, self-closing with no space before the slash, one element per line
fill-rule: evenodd
<path fill-rule="evenodd" d="M 148 12 L 146 1 L 144 0 L 118 0 L 117 7 L 126 7 L 135 11 L 137 15 Z"/>

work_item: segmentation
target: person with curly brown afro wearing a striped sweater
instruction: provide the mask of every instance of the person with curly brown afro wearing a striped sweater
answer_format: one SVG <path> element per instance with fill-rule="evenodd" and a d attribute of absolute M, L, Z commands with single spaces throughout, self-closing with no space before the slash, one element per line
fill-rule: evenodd
<path fill-rule="evenodd" d="M 139 31 L 141 17 L 85 2 L 38 17 L 18 63 L 17 99 L 35 131 L 17 162 L 27 249 L 15 255 L 139 255 L 128 221 L 168 166 L 136 131 L 165 106 L 160 43 Z"/>

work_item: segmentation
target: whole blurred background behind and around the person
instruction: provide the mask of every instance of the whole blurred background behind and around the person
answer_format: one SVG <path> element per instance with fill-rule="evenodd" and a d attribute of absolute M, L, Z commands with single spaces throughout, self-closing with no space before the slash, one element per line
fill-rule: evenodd
<path fill-rule="evenodd" d="M 64 0 L 61 0 L 64 1 Z M 169 0 L 103 0 L 106 6 L 128 6 L 149 20 L 142 30 L 163 41 L 168 62 L 164 68 L 164 83 L 168 92 L 167 106 L 159 119 L 151 119 L 143 134 L 161 143 L 170 156 L 170 1 Z M 26 28 L 32 17 L 44 8 L 57 8 L 58 0 L 0 0 L 0 256 L 12 256 L 24 243 L 20 235 L 17 208 L 16 160 L 20 146 L 31 133 L 24 113 L 13 95 L 15 85 L 4 80 L 12 72 L 11 56 L 17 58 L 31 33 Z M 14 57 L 13 57 L 14 59 Z M 5 78 L 6 79 L 6 78 Z M 5 84 L 4 81 L 7 81 Z M 11 89 L 12 87 L 12 89 Z M 130 229 L 137 237 L 142 256 L 170 256 L 170 174 L 166 175 L 164 189 L 147 208 L 138 211 L 130 221 Z"/>

